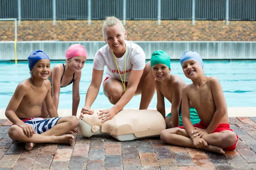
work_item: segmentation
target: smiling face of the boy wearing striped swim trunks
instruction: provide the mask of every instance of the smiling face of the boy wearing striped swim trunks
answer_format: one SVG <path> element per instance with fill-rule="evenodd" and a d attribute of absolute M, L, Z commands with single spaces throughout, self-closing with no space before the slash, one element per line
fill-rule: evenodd
<path fill-rule="evenodd" d="M 35 66 L 32 68 L 32 76 L 35 78 L 41 78 L 46 80 L 50 73 L 50 60 L 49 59 L 41 59 L 35 63 Z"/>

